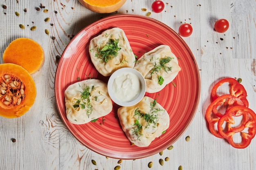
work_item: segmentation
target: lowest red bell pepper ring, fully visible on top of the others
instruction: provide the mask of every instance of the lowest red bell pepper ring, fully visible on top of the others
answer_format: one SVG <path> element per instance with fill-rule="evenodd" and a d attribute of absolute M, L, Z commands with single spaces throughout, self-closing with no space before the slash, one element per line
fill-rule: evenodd
<path fill-rule="evenodd" d="M 234 117 L 238 115 L 243 115 L 243 120 L 238 128 L 232 128 L 231 124 L 235 124 Z M 222 124 L 227 122 L 227 131 L 224 131 Z M 245 128 L 248 128 L 248 133 L 242 132 Z M 234 148 L 246 148 L 251 143 L 251 140 L 256 134 L 256 114 L 253 110 L 245 106 L 234 106 L 227 114 L 221 117 L 218 121 L 218 131 L 219 134 L 227 139 L 229 144 Z M 240 132 L 242 141 L 240 143 L 235 143 L 233 136 L 235 133 Z"/>

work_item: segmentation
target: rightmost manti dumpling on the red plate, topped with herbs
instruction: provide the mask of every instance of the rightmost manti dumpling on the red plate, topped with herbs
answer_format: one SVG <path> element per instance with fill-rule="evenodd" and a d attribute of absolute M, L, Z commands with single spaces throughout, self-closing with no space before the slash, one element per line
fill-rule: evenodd
<path fill-rule="evenodd" d="M 134 68 L 144 76 L 148 93 L 161 91 L 181 70 L 176 56 L 167 45 L 157 46 L 144 53 Z"/>

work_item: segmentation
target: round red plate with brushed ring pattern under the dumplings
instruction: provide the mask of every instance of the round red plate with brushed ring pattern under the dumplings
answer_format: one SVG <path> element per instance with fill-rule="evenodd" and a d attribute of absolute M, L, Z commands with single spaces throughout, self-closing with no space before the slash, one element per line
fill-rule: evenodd
<path fill-rule="evenodd" d="M 170 115 L 170 126 L 161 137 L 150 146 L 143 148 L 131 146 L 121 129 L 117 117 L 118 106 L 114 104 L 110 114 L 96 122 L 84 125 L 71 124 L 65 113 L 64 91 L 70 84 L 88 78 L 97 78 L 108 82 L 97 72 L 90 60 L 89 42 L 106 29 L 119 27 L 124 30 L 138 57 L 155 47 L 165 44 L 179 58 L 181 71 L 159 93 L 147 96 L 157 99 Z M 195 58 L 187 44 L 170 27 L 141 15 L 120 14 L 103 18 L 81 30 L 64 50 L 58 63 L 55 76 L 55 97 L 63 123 L 72 135 L 84 146 L 117 159 L 139 159 L 154 155 L 171 146 L 190 125 L 198 108 L 200 98 L 200 75 Z"/>

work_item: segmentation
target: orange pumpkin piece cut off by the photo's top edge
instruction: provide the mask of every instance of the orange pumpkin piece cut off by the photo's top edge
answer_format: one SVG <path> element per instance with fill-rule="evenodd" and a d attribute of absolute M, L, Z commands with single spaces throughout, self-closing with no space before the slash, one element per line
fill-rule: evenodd
<path fill-rule="evenodd" d="M 112 13 L 117 11 L 126 0 L 79 0 L 83 6 L 97 13 Z"/>

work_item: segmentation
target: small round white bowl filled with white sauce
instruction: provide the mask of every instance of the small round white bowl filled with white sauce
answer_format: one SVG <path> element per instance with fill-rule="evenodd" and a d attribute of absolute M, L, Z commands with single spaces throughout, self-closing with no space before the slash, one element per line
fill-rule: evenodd
<path fill-rule="evenodd" d="M 119 106 L 133 106 L 146 93 L 146 81 L 134 68 L 120 68 L 108 80 L 108 94 Z"/>

